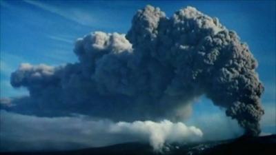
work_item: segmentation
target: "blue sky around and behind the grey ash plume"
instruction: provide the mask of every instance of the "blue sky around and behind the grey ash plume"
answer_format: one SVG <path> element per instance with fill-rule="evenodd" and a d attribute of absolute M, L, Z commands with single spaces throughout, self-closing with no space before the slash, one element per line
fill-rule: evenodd
<path fill-rule="evenodd" d="M 193 6 L 217 17 L 248 43 L 259 61 L 259 78 L 264 83 L 262 101 L 271 110 L 265 132 L 275 131 L 275 1 L 3 1 L 1 0 L 1 97 L 28 94 L 13 89 L 10 73 L 20 63 L 61 65 L 77 61 L 72 52 L 78 37 L 93 31 L 126 33 L 133 14 L 150 4 L 170 17 L 173 12 Z M 202 98 L 193 116 L 220 112 Z M 202 103 L 202 104 L 201 104 Z M 273 115 L 274 113 L 274 115 Z M 271 115 L 272 114 L 272 115 Z M 270 120 L 271 119 L 271 120 Z M 265 120 L 266 121 L 266 120 Z M 274 121 L 274 125 L 271 124 Z"/>

